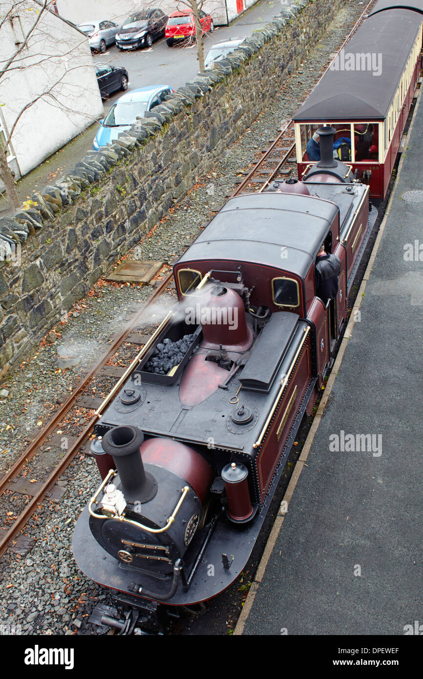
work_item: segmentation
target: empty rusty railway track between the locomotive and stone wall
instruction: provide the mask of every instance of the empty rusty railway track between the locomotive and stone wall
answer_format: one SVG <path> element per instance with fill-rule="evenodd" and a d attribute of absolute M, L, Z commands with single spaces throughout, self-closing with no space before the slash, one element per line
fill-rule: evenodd
<path fill-rule="evenodd" d="M 358 29 L 358 26 L 364 20 L 365 15 L 369 11 L 370 7 L 375 3 L 375 0 L 371 0 L 363 10 L 363 13 L 358 18 L 356 24 L 354 24 L 352 31 L 348 33 L 348 36 L 342 43 L 339 50 L 341 50 L 344 45 L 348 42 L 350 37 Z M 328 62 L 327 67 L 323 70 L 320 77 L 323 77 L 324 73 L 329 69 L 330 62 Z M 306 94 L 308 96 L 309 93 Z M 255 191 L 264 191 L 270 182 L 274 181 L 276 178 L 289 178 L 296 177 L 296 164 L 295 157 L 293 153 L 295 151 L 295 137 L 293 130 L 293 121 L 289 120 L 280 130 L 280 134 L 276 139 L 270 140 L 270 147 L 262 151 L 261 158 L 253 164 L 251 170 L 246 171 L 244 179 L 236 186 L 232 194 L 228 197 L 240 196 L 244 193 Z M 117 337 L 113 338 L 111 346 L 108 348 L 107 352 L 101 356 L 96 365 L 90 369 L 86 377 L 81 380 L 77 387 L 71 392 L 69 397 L 63 401 L 60 408 L 54 415 L 54 417 L 45 425 L 45 427 L 36 435 L 29 447 L 22 453 L 22 455 L 14 462 L 12 467 L 7 473 L 0 477 L 0 496 L 8 492 L 14 491 L 19 492 L 18 488 L 20 485 L 21 493 L 23 497 L 28 496 L 30 499 L 22 511 L 17 512 L 16 519 L 14 523 L 7 529 L 0 529 L 0 557 L 5 553 L 10 545 L 13 545 L 14 537 L 17 536 L 22 528 L 26 525 L 26 522 L 30 519 L 33 513 L 36 511 L 37 507 L 43 502 L 45 498 L 52 496 L 52 489 L 56 481 L 60 478 L 62 473 L 67 469 L 69 464 L 73 461 L 78 452 L 83 452 L 88 445 L 88 439 L 92 435 L 94 425 L 100 419 L 100 416 L 105 411 L 107 405 L 109 405 L 111 399 L 115 396 L 117 390 L 122 386 L 123 382 L 128 378 L 132 369 L 139 362 L 143 353 L 147 350 L 149 344 L 149 338 L 145 335 L 136 335 L 134 333 L 134 327 L 143 319 L 147 308 L 153 304 L 153 302 L 158 299 L 158 297 L 172 284 L 173 274 L 167 274 L 162 280 L 160 285 L 151 294 L 151 297 L 141 306 L 135 316 L 130 319 L 130 322 L 122 330 Z M 107 363 L 113 359 L 114 356 L 119 352 L 119 349 L 123 344 L 133 344 L 142 345 L 141 350 L 136 352 L 134 359 L 130 362 L 127 367 L 109 367 L 107 369 Z M 92 410 L 93 402 L 92 399 L 86 396 L 86 392 L 92 381 L 100 373 L 105 373 L 105 375 L 110 378 L 117 379 L 117 382 L 113 385 L 107 396 L 96 408 L 94 415 L 86 418 L 84 422 L 81 433 L 77 437 L 68 437 L 69 448 L 66 449 L 65 454 L 62 455 L 57 466 L 48 474 L 43 481 L 36 483 L 33 488 L 29 483 L 25 483 L 24 479 L 20 477 L 22 470 L 24 470 L 30 460 L 33 460 L 37 453 L 40 451 L 43 445 L 48 445 L 48 443 L 54 440 L 54 433 L 58 429 L 60 431 L 60 423 L 65 420 L 66 416 L 75 407 L 82 407 L 87 410 Z M 54 444 L 57 445 L 57 444 Z M 22 483 L 22 481 L 24 481 Z M 20 482 L 20 483 L 19 483 Z M 32 481 L 30 482 L 32 483 Z M 26 490 L 26 492 L 24 492 Z"/>

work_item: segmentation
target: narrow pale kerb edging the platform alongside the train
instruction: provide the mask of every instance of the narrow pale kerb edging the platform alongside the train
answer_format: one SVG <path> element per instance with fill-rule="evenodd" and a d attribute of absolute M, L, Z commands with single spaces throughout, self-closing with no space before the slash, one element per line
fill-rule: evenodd
<path fill-rule="evenodd" d="M 414 109 L 414 115 L 413 115 L 413 120 L 411 121 L 411 124 L 409 126 L 409 130 L 407 133 L 407 137 L 405 139 L 405 145 L 407 145 L 407 142 L 409 140 L 409 136 L 411 134 L 411 130 L 413 129 L 414 125 L 414 120 L 416 120 L 416 113 L 418 111 L 418 107 L 420 105 L 420 98 L 421 98 L 421 92 L 418 93 L 417 96 L 417 101 L 416 101 L 416 108 Z M 397 173 L 397 180 L 398 177 L 401 173 L 401 169 L 403 167 L 403 161 L 404 161 L 404 156 L 401 156 L 401 160 L 399 162 L 398 166 L 398 173 Z M 282 529 L 283 525 L 283 520 L 284 520 L 284 510 L 282 510 L 282 507 L 286 507 L 289 505 L 289 502 L 293 496 L 293 492 L 295 490 L 295 487 L 297 485 L 297 481 L 299 479 L 299 475 L 301 474 L 301 471 L 303 470 L 304 464 L 306 464 L 306 460 L 308 458 L 308 454 L 310 453 L 310 449 L 312 447 L 312 443 L 314 441 L 314 437 L 316 435 L 316 431 L 318 429 L 318 426 L 320 424 L 320 420 L 323 417 L 323 412 L 325 411 L 325 407 L 327 404 L 327 401 L 329 399 L 329 395 L 331 393 L 333 384 L 335 383 L 335 380 L 337 378 L 337 373 L 339 370 L 339 367 L 342 363 L 342 359 L 344 358 L 344 353 L 348 344 L 348 339 L 350 339 L 352 335 L 352 329 L 355 325 L 355 312 L 358 311 L 361 307 L 361 301 L 363 300 L 363 295 L 365 292 L 365 287 L 367 285 L 367 281 L 370 278 L 371 270 L 373 269 L 373 264 L 375 263 L 376 255 L 378 254 L 378 249 L 380 246 L 380 242 L 382 240 L 382 236 L 384 234 L 385 226 L 386 226 L 386 221 L 388 219 L 388 215 L 390 213 L 390 209 L 392 207 L 392 203 L 394 201 L 394 198 L 397 194 L 397 186 L 398 186 L 398 181 L 396 181 L 394 185 L 394 189 L 392 190 L 392 194 L 390 196 L 390 199 L 388 201 L 388 206 L 386 207 L 386 212 L 384 215 L 384 219 L 382 219 L 382 223 L 380 225 L 379 233 L 378 236 L 375 240 L 375 244 L 373 245 L 373 249 L 371 251 L 371 255 L 369 258 L 369 263 L 367 264 L 367 268 L 365 270 L 365 274 L 363 276 L 363 280 L 361 282 L 360 289 L 358 290 L 357 296 L 356 296 L 356 304 L 354 304 L 352 310 L 351 310 L 351 315 L 350 315 L 350 320 L 348 321 L 348 325 L 346 327 L 346 331 L 344 333 L 344 337 L 341 342 L 341 346 L 339 347 L 339 351 L 337 353 L 337 357 L 335 360 L 335 363 L 333 364 L 331 374 L 329 375 L 329 380 L 327 381 L 327 385 L 325 388 L 325 392 L 323 394 L 323 397 L 318 405 L 318 409 L 316 411 L 316 415 L 314 416 L 314 420 L 312 422 L 312 426 L 310 427 L 310 431 L 308 433 L 308 436 L 306 438 L 306 441 L 304 443 L 304 447 L 301 450 L 301 455 L 299 456 L 297 460 L 297 464 L 295 464 L 293 474 L 291 476 L 291 479 L 288 484 L 288 488 L 285 491 L 283 500 L 280 505 L 280 510 L 278 512 L 278 515 L 276 516 L 276 519 L 274 520 L 274 524 L 272 527 L 272 530 L 270 532 L 270 536 L 268 538 L 268 541 L 265 545 L 265 549 L 263 551 L 263 556 L 261 557 L 259 566 L 257 568 L 257 572 L 255 574 L 255 579 L 249 589 L 249 593 L 246 596 L 246 600 L 244 602 L 244 606 L 242 608 L 240 617 L 238 619 L 238 623 L 236 623 L 236 627 L 234 629 L 234 636 L 241 636 L 245 623 L 249 617 L 249 614 L 251 612 L 251 608 L 253 607 L 253 603 L 255 600 L 255 595 L 257 594 L 257 591 L 259 589 L 259 584 L 263 580 L 264 574 L 266 567 L 268 565 L 270 555 L 272 554 L 274 545 L 276 544 L 276 540 L 278 538 L 278 535 L 280 533 L 280 530 Z M 306 465 L 307 466 L 307 465 Z M 286 504 L 285 504 L 286 503 Z"/>

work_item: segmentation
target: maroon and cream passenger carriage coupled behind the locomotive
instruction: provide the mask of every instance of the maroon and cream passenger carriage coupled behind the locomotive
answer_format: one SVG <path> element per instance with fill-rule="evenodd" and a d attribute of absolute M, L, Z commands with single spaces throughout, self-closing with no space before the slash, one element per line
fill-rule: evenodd
<path fill-rule="evenodd" d="M 405 9 L 404 5 L 409 6 Z M 307 144 L 316 128 L 344 139 L 342 160 L 384 198 L 420 75 L 423 3 L 380 0 L 293 117 L 299 178 L 312 167 Z M 386 11 L 388 8 L 388 11 Z"/>

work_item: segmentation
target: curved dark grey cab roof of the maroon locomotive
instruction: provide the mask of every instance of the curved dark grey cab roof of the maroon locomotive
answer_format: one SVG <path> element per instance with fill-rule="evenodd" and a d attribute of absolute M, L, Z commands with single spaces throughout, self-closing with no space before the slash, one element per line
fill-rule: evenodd
<path fill-rule="evenodd" d="M 336 218 L 327 200 L 300 194 L 246 194 L 223 206 L 178 265 L 230 259 L 304 278 Z"/>

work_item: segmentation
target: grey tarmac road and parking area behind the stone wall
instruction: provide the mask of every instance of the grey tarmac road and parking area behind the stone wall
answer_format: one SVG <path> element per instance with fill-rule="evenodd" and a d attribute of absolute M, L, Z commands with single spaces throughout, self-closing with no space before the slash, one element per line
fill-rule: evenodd
<path fill-rule="evenodd" d="M 286 6 L 289 2 L 283 2 Z M 270 22 L 280 12 L 281 0 L 259 0 L 253 7 L 235 19 L 230 26 L 219 26 L 204 36 L 204 56 L 211 45 L 229 38 L 247 37 Z M 196 77 L 198 73 L 196 45 L 166 44 L 166 39 L 160 38 L 153 43 L 149 50 L 128 50 L 120 52 L 115 45 L 105 54 L 93 54 L 92 61 L 126 68 L 129 74 L 128 91 L 145 85 L 169 84 L 173 90 L 182 87 Z M 116 92 L 104 102 L 105 113 L 115 101 L 122 96 Z M 92 141 L 96 136 L 98 125 L 95 123 L 45 160 L 16 184 L 20 200 L 30 198 L 37 191 L 41 191 L 48 183 L 62 177 L 72 170 L 75 163 L 84 157 L 86 151 L 92 149 Z M 12 215 L 13 210 L 7 206 L 3 198 L 0 199 L 0 217 Z"/>

